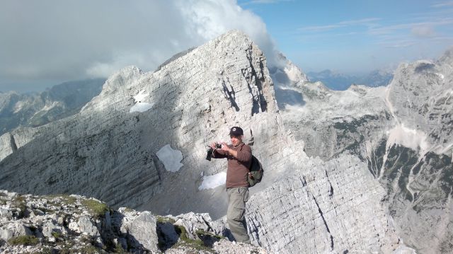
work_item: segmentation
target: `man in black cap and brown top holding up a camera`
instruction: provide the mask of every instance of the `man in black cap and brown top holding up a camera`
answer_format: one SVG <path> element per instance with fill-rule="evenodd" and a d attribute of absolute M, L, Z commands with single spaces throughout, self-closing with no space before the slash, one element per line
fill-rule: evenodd
<path fill-rule="evenodd" d="M 248 168 L 251 166 L 252 150 L 242 142 L 243 130 L 232 127 L 229 132 L 231 145 L 222 142 L 222 148 L 216 149 L 215 143 L 211 144 L 214 152 L 212 158 L 227 158 L 226 193 L 228 194 L 228 211 L 226 219 L 229 229 L 236 241 L 250 243 L 248 238 L 245 214 L 248 200 Z"/>

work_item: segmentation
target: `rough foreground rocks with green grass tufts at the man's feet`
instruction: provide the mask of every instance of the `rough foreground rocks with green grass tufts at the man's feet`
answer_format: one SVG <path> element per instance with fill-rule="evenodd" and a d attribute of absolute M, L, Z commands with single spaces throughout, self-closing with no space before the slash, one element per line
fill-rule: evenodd
<path fill-rule="evenodd" d="M 1 253 L 267 253 L 223 232 L 224 221 L 208 214 L 156 217 L 77 195 L 0 190 Z"/>

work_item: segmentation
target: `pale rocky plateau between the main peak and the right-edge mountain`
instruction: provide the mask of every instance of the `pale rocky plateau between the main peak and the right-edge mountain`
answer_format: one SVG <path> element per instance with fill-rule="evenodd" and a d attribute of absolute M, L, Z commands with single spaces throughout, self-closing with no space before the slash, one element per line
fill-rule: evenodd
<path fill-rule="evenodd" d="M 304 105 L 282 110 L 285 126 L 304 142 L 308 156 L 329 160 L 341 154 L 367 156 L 367 142 L 376 144 L 386 137 L 394 119 L 384 102 L 386 88 L 350 86 L 331 91 L 322 83 L 297 83 Z"/>

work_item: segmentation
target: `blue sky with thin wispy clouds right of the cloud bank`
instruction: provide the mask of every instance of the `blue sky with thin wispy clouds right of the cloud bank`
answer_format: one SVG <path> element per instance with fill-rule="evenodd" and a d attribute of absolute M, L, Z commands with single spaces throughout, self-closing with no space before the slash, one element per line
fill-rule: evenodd
<path fill-rule="evenodd" d="M 358 74 L 439 57 L 453 46 L 453 1 L 238 1 L 304 71 Z"/>

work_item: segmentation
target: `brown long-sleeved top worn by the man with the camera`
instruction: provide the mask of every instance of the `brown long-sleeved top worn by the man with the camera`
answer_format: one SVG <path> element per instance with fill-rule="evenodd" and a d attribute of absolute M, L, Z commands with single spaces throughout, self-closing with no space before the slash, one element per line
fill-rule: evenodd
<path fill-rule="evenodd" d="M 228 158 L 226 188 L 248 187 L 247 175 L 252 162 L 252 149 L 243 143 L 236 147 L 230 145 L 229 148 L 238 152 L 237 158 L 222 149 L 214 151 L 214 158 Z"/>

